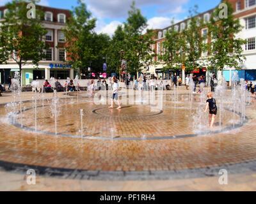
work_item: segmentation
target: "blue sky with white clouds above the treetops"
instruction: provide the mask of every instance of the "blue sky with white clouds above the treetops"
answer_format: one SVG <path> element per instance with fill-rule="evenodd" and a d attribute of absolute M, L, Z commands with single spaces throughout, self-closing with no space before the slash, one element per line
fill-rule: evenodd
<path fill-rule="evenodd" d="M 0 5 L 9 0 L 0 0 Z M 110 36 L 118 25 L 125 22 L 132 0 L 83 0 L 92 16 L 97 18 L 97 33 Z M 198 5 L 198 11 L 210 10 L 220 0 L 136 0 L 136 7 L 148 20 L 149 29 L 163 29 L 171 24 L 172 19 L 179 22 L 188 17 L 189 8 Z M 42 5 L 72 10 L 77 0 L 41 0 Z"/>

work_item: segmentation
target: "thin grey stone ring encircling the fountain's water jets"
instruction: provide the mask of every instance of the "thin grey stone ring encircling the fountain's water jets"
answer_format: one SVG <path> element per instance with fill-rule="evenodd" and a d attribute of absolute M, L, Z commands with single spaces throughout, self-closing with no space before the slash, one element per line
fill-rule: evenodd
<path fill-rule="evenodd" d="M 30 102 L 30 101 L 26 101 L 26 102 Z M 38 106 L 38 108 L 40 108 L 42 106 Z M 33 108 L 28 108 L 26 110 L 24 110 L 24 112 L 31 110 Z M 225 110 L 232 112 L 232 110 L 228 110 L 227 108 L 225 108 Z M 239 117 L 241 117 L 242 113 L 239 112 L 235 112 L 237 115 L 239 115 Z M 18 112 L 19 114 L 19 112 Z M 204 135 L 216 135 L 218 133 L 225 133 L 227 131 L 232 131 L 234 129 L 238 129 L 244 126 L 244 124 L 247 124 L 249 121 L 249 118 L 245 116 L 245 120 L 243 122 L 243 124 L 241 124 L 240 122 L 237 124 L 230 124 L 230 126 L 227 126 L 226 128 L 223 129 L 218 129 L 216 131 L 204 131 L 202 133 L 196 133 L 196 134 L 189 134 L 189 135 L 173 135 L 173 136 L 159 136 L 159 137 L 143 137 L 143 138 L 134 138 L 134 137 L 116 137 L 116 138 L 111 138 L 109 136 L 83 136 L 84 140 L 109 140 L 109 141 L 146 141 L 146 140 L 175 140 L 175 139 L 182 139 L 182 138 L 192 138 L 192 137 L 196 137 L 196 136 L 204 136 Z M 24 131 L 29 131 L 31 133 L 36 133 L 36 134 L 44 134 L 44 135 L 51 135 L 51 136 L 61 136 L 61 137 L 65 137 L 65 138 L 80 138 L 81 136 L 76 136 L 76 135 L 68 135 L 68 134 L 57 134 L 56 133 L 52 133 L 52 132 L 48 132 L 48 131 L 39 131 L 33 128 L 29 128 L 26 126 L 22 126 L 22 124 L 19 124 L 17 122 L 13 123 L 13 119 L 12 117 L 9 117 L 9 122 L 11 125 L 15 126 L 16 128 L 22 129 Z"/>

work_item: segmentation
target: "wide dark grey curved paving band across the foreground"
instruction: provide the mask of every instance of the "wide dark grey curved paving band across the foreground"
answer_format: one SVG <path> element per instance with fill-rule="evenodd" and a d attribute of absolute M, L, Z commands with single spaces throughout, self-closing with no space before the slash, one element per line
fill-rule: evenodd
<path fill-rule="evenodd" d="M 193 179 L 205 177 L 220 177 L 219 171 L 225 169 L 229 175 L 256 171 L 256 160 L 248 160 L 243 163 L 223 164 L 207 168 L 194 168 L 188 170 L 170 171 L 90 171 L 65 168 L 52 168 L 49 166 L 34 166 L 28 164 L 9 163 L 0 161 L 0 170 L 26 174 L 29 169 L 36 171 L 36 175 L 54 177 L 57 179 L 75 180 L 171 180 Z"/>

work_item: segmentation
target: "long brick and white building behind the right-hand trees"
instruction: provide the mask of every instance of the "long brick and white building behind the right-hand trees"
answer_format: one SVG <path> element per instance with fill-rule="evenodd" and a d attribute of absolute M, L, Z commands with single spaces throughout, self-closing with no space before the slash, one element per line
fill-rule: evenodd
<path fill-rule="evenodd" d="M 246 61 L 244 64 L 241 64 L 241 70 L 239 70 L 239 76 L 241 78 L 245 78 L 246 80 L 256 80 L 256 48 L 255 48 L 255 40 L 256 40 L 256 0 L 228 0 L 232 6 L 234 7 L 234 17 L 239 18 L 241 25 L 243 25 L 243 31 L 239 33 L 239 37 L 247 40 L 246 45 L 243 47 L 243 55 L 246 57 Z M 217 6 L 217 5 L 216 5 Z M 209 11 L 205 11 L 204 13 L 200 13 L 198 17 L 203 18 L 205 22 L 209 21 L 211 18 L 211 14 L 214 11 L 214 8 Z M 186 29 L 186 26 L 188 25 L 189 19 L 183 20 L 182 22 L 179 22 L 175 25 L 175 29 L 177 31 L 182 31 L 183 29 Z M 171 25 L 170 25 L 171 27 Z M 156 54 L 161 54 L 163 51 L 163 41 L 164 36 L 168 29 L 170 27 L 165 27 L 164 29 L 157 29 L 157 39 L 155 40 L 154 45 L 152 45 L 152 48 L 154 48 Z M 202 34 L 207 35 L 208 29 L 204 28 L 202 29 Z M 210 39 L 211 40 L 211 39 Z M 208 39 L 209 41 L 209 39 Z M 208 53 L 202 53 L 202 61 L 207 59 Z M 155 58 L 155 61 L 158 61 L 157 57 Z M 167 78 L 169 79 L 172 75 L 170 72 L 164 73 L 163 70 L 163 62 L 160 62 L 159 65 L 150 66 L 150 68 L 146 71 L 144 70 L 144 73 L 147 73 L 147 75 L 158 75 L 159 78 Z M 223 71 L 223 75 L 225 79 L 229 82 L 230 76 L 232 76 L 232 72 L 234 71 L 234 68 L 225 68 L 225 71 Z M 181 70 L 178 71 L 178 74 L 180 77 L 182 77 L 183 82 L 185 79 L 185 71 Z M 207 71 L 207 67 L 202 68 L 198 71 L 196 71 L 197 75 L 205 75 L 206 78 L 209 78 L 209 71 Z"/>

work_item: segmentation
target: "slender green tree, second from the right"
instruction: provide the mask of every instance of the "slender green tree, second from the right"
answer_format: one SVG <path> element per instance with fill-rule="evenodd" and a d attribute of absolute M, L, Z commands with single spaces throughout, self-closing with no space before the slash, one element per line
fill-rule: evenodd
<path fill-rule="evenodd" d="M 182 46 L 184 52 L 184 65 L 186 71 L 200 66 L 199 60 L 202 57 L 202 52 L 205 50 L 204 36 L 202 36 L 202 28 L 205 26 L 203 19 L 198 17 L 198 6 L 193 10 L 189 10 L 189 20 L 187 28 L 182 31 L 185 43 Z"/>

